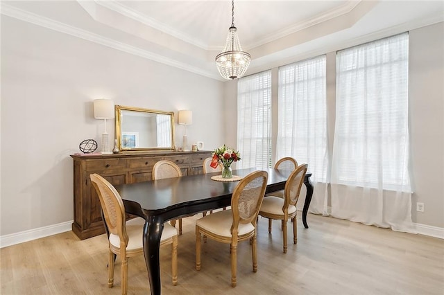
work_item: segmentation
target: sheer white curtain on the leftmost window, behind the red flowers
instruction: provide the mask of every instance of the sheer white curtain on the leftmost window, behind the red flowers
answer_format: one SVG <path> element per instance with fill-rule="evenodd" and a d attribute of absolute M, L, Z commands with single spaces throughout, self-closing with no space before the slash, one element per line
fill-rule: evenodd
<path fill-rule="evenodd" d="M 237 168 L 271 167 L 271 71 L 237 83 Z"/>

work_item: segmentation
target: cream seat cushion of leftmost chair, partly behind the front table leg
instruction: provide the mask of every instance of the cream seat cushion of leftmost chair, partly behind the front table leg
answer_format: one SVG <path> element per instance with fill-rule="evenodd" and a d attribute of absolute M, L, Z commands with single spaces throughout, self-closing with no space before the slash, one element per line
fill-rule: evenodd
<path fill-rule="evenodd" d="M 141 222 L 141 220 L 143 222 Z M 126 233 L 128 234 L 128 245 L 126 246 L 126 250 L 130 251 L 144 247 L 143 244 L 144 224 L 145 220 L 141 217 L 137 217 L 134 220 L 129 220 L 128 222 L 126 222 Z M 164 230 L 162 231 L 162 237 L 160 238 L 160 241 L 162 242 L 164 240 L 172 238 L 174 235 L 177 234 L 178 234 L 177 229 L 171 226 L 171 224 L 165 222 Z M 112 244 L 114 247 L 120 248 L 119 235 L 110 234 L 110 244 Z"/>

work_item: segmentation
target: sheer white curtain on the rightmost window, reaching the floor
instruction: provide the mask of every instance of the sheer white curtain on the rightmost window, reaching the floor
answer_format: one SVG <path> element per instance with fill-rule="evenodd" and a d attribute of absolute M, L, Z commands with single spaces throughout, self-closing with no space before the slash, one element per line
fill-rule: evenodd
<path fill-rule="evenodd" d="M 332 216 L 413 232 L 409 35 L 339 51 Z"/>

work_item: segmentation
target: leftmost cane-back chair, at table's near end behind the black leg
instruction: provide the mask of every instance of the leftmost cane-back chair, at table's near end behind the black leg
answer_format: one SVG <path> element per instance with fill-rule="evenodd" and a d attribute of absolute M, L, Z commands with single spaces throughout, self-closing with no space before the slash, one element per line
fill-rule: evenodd
<path fill-rule="evenodd" d="M 92 185 L 99 195 L 100 204 L 105 217 L 106 226 L 110 233 L 108 245 L 110 249 L 108 260 L 108 287 L 114 285 L 114 258 L 121 257 L 121 289 L 122 294 L 128 289 L 128 258 L 143 255 L 144 222 L 130 220 L 126 222 L 125 208 L 117 190 L 106 179 L 97 174 L 89 175 Z M 142 218 L 138 218 L 142 220 Z M 171 244 L 171 276 L 173 285 L 178 283 L 178 233 L 177 230 L 165 223 L 160 245 Z"/>

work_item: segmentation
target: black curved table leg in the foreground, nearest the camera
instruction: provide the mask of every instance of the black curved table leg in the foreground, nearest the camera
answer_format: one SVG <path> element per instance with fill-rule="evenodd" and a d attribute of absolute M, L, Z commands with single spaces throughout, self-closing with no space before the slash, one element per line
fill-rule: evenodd
<path fill-rule="evenodd" d="M 160 294 L 160 237 L 164 224 L 160 217 L 149 217 L 144 226 L 144 256 L 148 278 L 150 280 L 151 294 Z"/>

